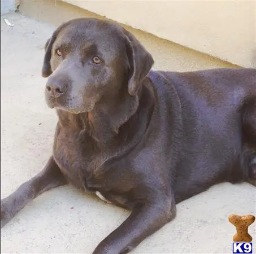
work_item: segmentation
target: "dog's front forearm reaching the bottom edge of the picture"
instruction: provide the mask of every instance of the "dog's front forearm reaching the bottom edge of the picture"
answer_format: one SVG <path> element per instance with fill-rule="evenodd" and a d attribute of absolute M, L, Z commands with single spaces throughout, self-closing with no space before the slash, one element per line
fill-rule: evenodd
<path fill-rule="evenodd" d="M 175 215 L 176 206 L 173 200 L 137 205 L 127 220 L 99 243 L 93 254 L 128 253 Z"/>

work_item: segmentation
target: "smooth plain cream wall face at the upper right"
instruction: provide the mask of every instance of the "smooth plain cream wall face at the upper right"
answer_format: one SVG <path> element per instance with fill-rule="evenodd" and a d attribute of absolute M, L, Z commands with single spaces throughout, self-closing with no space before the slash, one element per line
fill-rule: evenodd
<path fill-rule="evenodd" d="M 228 62 L 256 67 L 256 1 L 65 2 Z"/>

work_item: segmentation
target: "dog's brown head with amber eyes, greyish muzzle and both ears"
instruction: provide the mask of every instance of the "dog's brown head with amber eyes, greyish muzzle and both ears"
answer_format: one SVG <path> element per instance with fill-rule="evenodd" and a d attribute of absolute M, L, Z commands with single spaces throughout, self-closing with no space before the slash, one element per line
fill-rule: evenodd
<path fill-rule="evenodd" d="M 136 96 L 153 59 L 124 28 L 108 21 L 75 19 L 60 25 L 45 45 L 42 76 L 46 102 L 71 113 L 90 112 L 120 90 Z"/>

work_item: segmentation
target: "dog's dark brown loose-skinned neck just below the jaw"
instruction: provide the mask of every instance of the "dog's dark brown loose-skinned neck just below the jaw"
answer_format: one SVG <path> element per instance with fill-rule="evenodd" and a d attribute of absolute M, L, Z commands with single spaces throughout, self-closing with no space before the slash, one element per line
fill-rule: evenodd
<path fill-rule="evenodd" d="M 59 124 L 63 129 L 90 135 L 99 144 L 110 143 L 115 138 L 122 142 L 122 139 L 134 132 L 134 127 L 131 128 L 130 125 L 138 124 L 137 118 L 142 113 L 145 117 L 150 113 L 148 110 L 152 108 L 154 101 L 153 90 L 150 89 L 142 85 L 136 96 L 123 93 L 118 100 L 102 98 L 91 112 L 73 114 L 57 110 Z"/>

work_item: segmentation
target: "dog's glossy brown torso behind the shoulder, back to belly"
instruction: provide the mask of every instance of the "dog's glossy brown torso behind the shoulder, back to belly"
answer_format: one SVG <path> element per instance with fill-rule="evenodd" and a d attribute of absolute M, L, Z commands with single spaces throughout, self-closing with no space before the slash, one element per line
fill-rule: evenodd
<path fill-rule="evenodd" d="M 151 76 L 168 80 L 181 103 L 183 150 L 176 202 L 216 182 L 249 180 L 255 185 L 256 70 L 155 72 Z"/>

